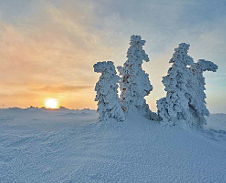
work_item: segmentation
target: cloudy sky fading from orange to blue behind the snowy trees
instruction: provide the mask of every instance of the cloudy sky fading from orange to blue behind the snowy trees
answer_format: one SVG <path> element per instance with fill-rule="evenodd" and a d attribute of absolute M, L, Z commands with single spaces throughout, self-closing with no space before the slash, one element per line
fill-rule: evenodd
<path fill-rule="evenodd" d="M 166 92 L 161 82 L 179 43 L 189 55 L 219 66 L 206 72 L 207 106 L 226 113 L 226 1 L 0 0 L 0 107 L 42 107 L 57 98 L 68 108 L 96 109 L 93 64 L 126 61 L 132 34 L 146 40 L 143 68 L 154 86 L 146 98 Z"/>

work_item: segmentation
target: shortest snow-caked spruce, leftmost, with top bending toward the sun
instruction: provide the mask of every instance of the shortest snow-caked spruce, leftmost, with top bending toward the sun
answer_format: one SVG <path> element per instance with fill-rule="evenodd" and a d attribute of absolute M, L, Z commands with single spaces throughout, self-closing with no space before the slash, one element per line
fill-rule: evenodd
<path fill-rule="evenodd" d="M 117 83 L 120 78 L 116 75 L 113 62 L 98 62 L 93 67 L 95 72 L 101 73 L 95 87 L 97 92 L 95 101 L 98 101 L 97 111 L 100 114 L 100 121 L 106 121 L 108 118 L 124 121 L 125 115 L 121 108 L 117 90 Z"/>

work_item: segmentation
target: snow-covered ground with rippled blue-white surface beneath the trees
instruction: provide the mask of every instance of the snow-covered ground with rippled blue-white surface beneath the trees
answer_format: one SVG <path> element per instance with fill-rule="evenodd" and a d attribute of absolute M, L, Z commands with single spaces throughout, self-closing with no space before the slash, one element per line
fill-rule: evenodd
<path fill-rule="evenodd" d="M 202 131 L 135 114 L 96 123 L 92 110 L 0 110 L 0 183 L 226 182 L 226 115 Z"/>

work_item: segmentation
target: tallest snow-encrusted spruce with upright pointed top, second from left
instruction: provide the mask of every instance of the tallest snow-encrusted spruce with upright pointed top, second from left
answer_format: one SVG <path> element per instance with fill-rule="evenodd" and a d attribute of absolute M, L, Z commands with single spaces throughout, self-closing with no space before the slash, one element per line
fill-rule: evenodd
<path fill-rule="evenodd" d="M 149 95 L 153 87 L 148 74 L 142 69 L 143 60 L 149 62 L 148 55 L 143 50 L 145 40 L 141 36 L 132 35 L 130 47 L 127 51 L 127 61 L 118 70 L 121 75 L 120 90 L 123 110 L 129 112 L 137 109 L 143 116 L 156 119 L 156 115 L 149 109 L 145 96 Z"/>

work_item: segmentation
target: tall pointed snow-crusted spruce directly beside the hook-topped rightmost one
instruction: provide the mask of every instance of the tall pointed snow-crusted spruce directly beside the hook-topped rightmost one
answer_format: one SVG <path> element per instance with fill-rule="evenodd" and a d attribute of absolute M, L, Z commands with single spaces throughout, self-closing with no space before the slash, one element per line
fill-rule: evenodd
<path fill-rule="evenodd" d="M 169 63 L 172 67 L 168 75 L 163 77 L 166 97 L 157 101 L 158 114 L 163 124 L 169 126 L 191 126 L 193 121 L 189 112 L 189 87 L 190 79 L 193 77 L 191 69 L 187 66 L 193 64 L 193 59 L 187 55 L 189 44 L 181 43 L 175 48 L 173 57 Z"/>

